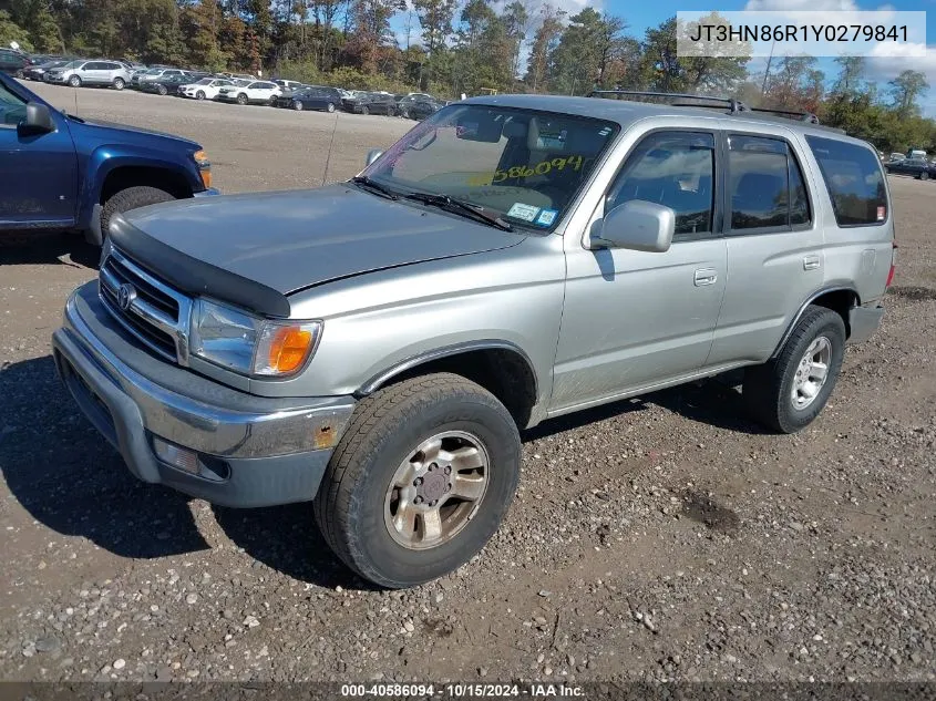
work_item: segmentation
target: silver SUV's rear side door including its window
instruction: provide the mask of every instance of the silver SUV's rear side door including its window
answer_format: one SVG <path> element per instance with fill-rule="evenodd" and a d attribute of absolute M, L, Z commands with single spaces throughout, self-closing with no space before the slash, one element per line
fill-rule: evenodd
<path fill-rule="evenodd" d="M 822 227 L 795 143 L 782 127 L 723 135 L 728 285 L 707 365 L 765 360 L 823 285 Z"/>

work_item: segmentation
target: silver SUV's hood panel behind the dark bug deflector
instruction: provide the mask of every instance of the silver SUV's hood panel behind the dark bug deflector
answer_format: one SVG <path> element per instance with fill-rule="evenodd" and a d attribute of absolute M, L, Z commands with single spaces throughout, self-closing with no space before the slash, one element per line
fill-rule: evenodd
<path fill-rule="evenodd" d="M 130 212 L 124 219 L 187 259 L 281 295 L 362 272 L 507 248 L 524 238 L 347 185 L 186 199 Z"/>

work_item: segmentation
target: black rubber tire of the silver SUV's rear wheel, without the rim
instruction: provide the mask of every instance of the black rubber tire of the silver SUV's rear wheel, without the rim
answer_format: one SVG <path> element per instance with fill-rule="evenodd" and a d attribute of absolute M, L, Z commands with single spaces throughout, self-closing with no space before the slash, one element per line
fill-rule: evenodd
<path fill-rule="evenodd" d="M 801 360 L 817 339 L 825 338 L 830 359 L 825 381 L 808 406 L 794 404 L 793 388 Z M 845 354 L 845 322 L 825 307 L 808 307 L 773 360 L 744 372 L 743 399 L 752 415 L 779 433 L 795 433 L 812 423 L 832 394 Z"/>

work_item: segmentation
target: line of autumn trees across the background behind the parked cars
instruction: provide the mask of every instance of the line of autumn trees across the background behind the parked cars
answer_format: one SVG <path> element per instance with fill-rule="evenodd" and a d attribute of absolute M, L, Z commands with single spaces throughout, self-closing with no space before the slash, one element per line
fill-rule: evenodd
<path fill-rule="evenodd" d="M 836 75 L 803 56 L 773 60 L 752 75 L 747 58 L 678 58 L 676 18 L 634 35 L 624 18 L 592 8 L 569 16 L 549 3 L 531 7 L 526 0 L 0 0 L 0 45 L 16 40 L 35 52 L 261 70 L 445 97 L 596 89 L 731 95 L 816 113 L 883 151 L 936 151 L 936 122 L 919 109 L 929 86 L 916 71 L 894 76 L 886 90 L 867 80 L 858 58 L 840 59 Z"/>

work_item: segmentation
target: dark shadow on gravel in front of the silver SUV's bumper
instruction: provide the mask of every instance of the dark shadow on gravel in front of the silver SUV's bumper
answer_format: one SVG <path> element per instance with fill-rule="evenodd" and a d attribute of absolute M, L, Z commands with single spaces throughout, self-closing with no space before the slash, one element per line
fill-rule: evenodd
<path fill-rule="evenodd" d="M 50 355 L 0 368 L 0 472 L 35 520 L 122 557 L 207 549 L 188 498 L 127 472 L 81 415 Z M 47 539 L 40 534 L 37 547 Z"/>

